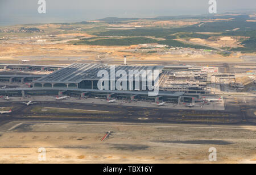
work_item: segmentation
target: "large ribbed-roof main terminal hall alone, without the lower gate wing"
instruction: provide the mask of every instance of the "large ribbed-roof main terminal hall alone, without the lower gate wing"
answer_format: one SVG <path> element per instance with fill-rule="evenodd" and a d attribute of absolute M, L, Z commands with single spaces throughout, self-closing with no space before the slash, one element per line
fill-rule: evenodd
<path fill-rule="evenodd" d="M 108 64 L 72 64 L 56 72 L 53 72 L 47 76 L 39 78 L 33 81 L 33 87 L 72 87 L 78 89 L 98 89 L 98 81 L 101 80 L 102 75 L 98 76 L 101 71 L 108 74 L 109 87 L 105 90 L 117 90 L 113 88 L 112 84 L 116 84 L 118 78 L 124 78 L 127 80 L 125 90 L 135 90 L 135 81 L 139 81 L 139 89 L 143 86 L 143 73 L 146 73 L 147 80 L 152 80 L 152 86 L 154 86 L 154 75 L 156 70 L 159 74 L 162 73 L 164 66 L 110 66 Z M 150 71 L 152 72 L 150 74 Z M 115 75 L 119 72 L 119 77 Z M 133 73 L 133 82 L 129 82 L 129 73 Z M 114 76 L 114 77 L 112 77 Z M 139 79 L 138 79 L 139 78 Z M 129 86 L 132 84 L 132 86 Z M 133 88 L 130 88 L 133 87 Z M 147 90 L 147 89 L 145 89 Z"/>

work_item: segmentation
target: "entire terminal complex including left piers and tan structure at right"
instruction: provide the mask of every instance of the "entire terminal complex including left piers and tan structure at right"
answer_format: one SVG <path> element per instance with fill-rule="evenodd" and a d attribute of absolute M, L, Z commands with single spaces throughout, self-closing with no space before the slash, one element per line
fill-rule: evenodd
<path fill-rule="evenodd" d="M 104 74 L 101 74 L 101 71 Z M 102 81 L 105 74 L 108 80 Z M 71 64 L 47 75 L 0 78 L 3 81 L 28 81 L 31 84 L 30 88 L 0 90 L 1 95 L 71 95 L 174 103 L 195 102 L 201 94 L 206 93 L 208 81 L 207 73 L 202 71 L 201 67 L 189 65 Z M 155 96 L 148 95 L 148 92 L 154 91 L 150 87 L 154 87 L 156 81 L 159 83 L 159 93 Z M 105 87 L 103 90 L 98 88 L 99 82 Z M 115 86 L 117 82 L 122 89 Z"/>

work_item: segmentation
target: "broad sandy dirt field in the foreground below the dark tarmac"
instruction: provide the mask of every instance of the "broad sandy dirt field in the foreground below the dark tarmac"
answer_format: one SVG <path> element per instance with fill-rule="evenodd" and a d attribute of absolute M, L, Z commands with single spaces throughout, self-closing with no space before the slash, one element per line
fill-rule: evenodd
<path fill-rule="evenodd" d="M 0 128 L 0 163 L 256 163 L 252 126 L 16 124 Z M 38 160 L 40 147 L 46 161 Z M 208 160 L 210 147 L 217 161 Z"/>

